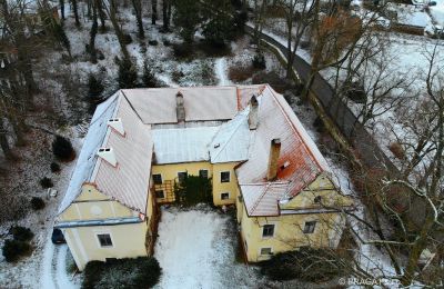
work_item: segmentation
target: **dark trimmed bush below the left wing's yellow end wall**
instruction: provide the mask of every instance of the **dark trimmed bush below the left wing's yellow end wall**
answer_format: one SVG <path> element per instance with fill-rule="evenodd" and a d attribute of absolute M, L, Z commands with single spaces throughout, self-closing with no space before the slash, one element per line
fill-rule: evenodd
<path fill-rule="evenodd" d="M 152 288 L 161 273 L 153 257 L 91 261 L 84 269 L 82 288 Z"/>

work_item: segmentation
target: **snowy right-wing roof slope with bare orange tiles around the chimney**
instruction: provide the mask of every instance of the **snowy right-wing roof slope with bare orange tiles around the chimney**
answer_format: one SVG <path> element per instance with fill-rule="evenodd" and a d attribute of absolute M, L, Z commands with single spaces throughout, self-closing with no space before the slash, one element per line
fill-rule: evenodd
<path fill-rule="evenodd" d="M 259 126 L 254 142 L 250 144 L 250 158 L 236 169 L 241 189 L 243 185 L 262 183 L 261 186 L 268 186 L 266 171 L 272 139 L 281 140 L 276 181 L 290 182 L 285 196 L 282 197 L 296 196 L 321 172 L 329 170 L 325 159 L 284 98 L 266 87 L 259 97 Z M 285 162 L 289 166 L 282 169 Z M 243 197 L 253 198 L 245 200 L 245 205 L 255 203 L 254 208 L 246 207 L 250 216 L 278 213 L 275 209 L 265 203 L 269 199 L 260 193 L 246 193 Z M 263 208 L 258 209 L 258 206 Z M 278 207 L 275 206 L 275 208 Z"/>

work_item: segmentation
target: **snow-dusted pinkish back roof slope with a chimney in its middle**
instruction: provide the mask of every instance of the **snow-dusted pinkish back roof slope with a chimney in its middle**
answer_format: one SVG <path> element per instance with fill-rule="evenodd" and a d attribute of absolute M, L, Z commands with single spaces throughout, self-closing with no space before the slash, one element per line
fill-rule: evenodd
<path fill-rule="evenodd" d="M 235 87 L 124 89 L 145 124 L 176 123 L 175 96 L 183 94 L 185 121 L 229 120 L 238 113 Z"/>

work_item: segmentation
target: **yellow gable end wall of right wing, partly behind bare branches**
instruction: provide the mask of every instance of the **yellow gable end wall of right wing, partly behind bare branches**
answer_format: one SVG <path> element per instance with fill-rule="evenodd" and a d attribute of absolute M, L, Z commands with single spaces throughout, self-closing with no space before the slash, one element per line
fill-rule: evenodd
<path fill-rule="evenodd" d="M 352 201 L 333 190 L 327 178 L 321 176 L 303 191 L 286 203 L 286 209 L 319 208 L 314 197 L 322 196 L 322 203 L 350 206 Z M 241 223 L 241 236 L 250 262 L 269 259 L 271 256 L 261 256 L 261 248 L 271 248 L 273 253 L 296 250 L 300 247 L 336 248 L 345 225 L 345 216 L 340 212 L 281 215 L 279 217 L 249 217 L 243 202 L 238 201 L 238 221 Z M 305 206 L 305 207 L 304 207 Z M 240 208 L 241 207 L 241 208 Z M 281 213 L 284 211 L 281 210 Z M 316 221 L 313 233 L 304 233 L 305 222 Z M 275 225 L 273 237 L 262 237 L 264 225 Z M 245 245 L 246 243 L 246 245 Z"/>

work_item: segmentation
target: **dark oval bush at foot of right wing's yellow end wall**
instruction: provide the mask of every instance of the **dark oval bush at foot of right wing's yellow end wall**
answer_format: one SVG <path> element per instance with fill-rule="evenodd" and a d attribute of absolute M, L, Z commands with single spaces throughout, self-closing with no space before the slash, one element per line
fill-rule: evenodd
<path fill-rule="evenodd" d="M 335 252 L 324 249 L 301 248 L 299 251 L 276 253 L 260 262 L 261 273 L 272 280 L 297 278 L 307 282 L 324 282 L 343 272 L 345 265 Z"/>

